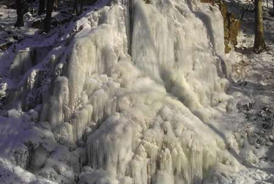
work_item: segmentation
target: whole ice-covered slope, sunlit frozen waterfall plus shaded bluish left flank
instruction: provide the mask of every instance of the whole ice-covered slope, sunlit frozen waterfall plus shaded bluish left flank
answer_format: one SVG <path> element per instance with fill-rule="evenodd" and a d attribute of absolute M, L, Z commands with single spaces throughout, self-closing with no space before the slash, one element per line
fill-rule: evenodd
<path fill-rule="evenodd" d="M 111 1 L 56 39 L 4 79 L 0 167 L 18 184 L 201 184 L 241 167 L 213 126 L 235 108 L 217 7 Z"/>

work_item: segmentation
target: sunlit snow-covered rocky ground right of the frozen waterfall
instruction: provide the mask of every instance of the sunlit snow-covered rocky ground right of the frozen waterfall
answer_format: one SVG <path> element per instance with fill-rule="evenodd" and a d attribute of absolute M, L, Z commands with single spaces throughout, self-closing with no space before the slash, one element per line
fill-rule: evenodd
<path fill-rule="evenodd" d="M 239 15 L 241 7 L 247 1 L 226 2 L 229 10 Z M 233 182 L 230 183 L 274 183 L 274 132 L 269 125 L 273 119 L 268 120 L 264 116 L 273 115 L 268 113 L 267 108 L 273 109 L 274 100 L 274 18 L 270 15 L 273 12 L 272 2 L 269 2 L 269 8 L 266 2 L 264 5 L 265 41 L 270 50 L 261 54 L 253 52 L 254 13 L 246 12 L 241 22 L 239 43 L 233 52 L 227 54 L 232 63 L 232 83 L 228 93 L 235 97 L 236 103 L 244 105 L 241 110 L 243 115 L 220 118 L 220 122 L 237 124 L 228 131 L 230 135 L 226 137 L 230 149 L 245 166 L 241 172 L 234 173 L 231 178 Z"/>

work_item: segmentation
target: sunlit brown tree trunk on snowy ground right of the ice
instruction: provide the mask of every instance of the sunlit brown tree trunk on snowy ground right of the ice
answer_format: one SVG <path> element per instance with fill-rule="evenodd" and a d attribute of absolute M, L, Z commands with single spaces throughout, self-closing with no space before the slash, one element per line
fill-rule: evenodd
<path fill-rule="evenodd" d="M 261 0 L 255 0 L 255 52 L 263 52 L 266 49 L 264 40 L 263 6 Z"/>

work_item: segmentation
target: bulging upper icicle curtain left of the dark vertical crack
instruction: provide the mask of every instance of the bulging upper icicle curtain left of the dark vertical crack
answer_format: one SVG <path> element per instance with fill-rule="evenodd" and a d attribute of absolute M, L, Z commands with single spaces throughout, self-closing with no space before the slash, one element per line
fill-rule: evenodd
<path fill-rule="evenodd" d="M 98 26 L 87 33 L 84 38 L 76 38 L 73 42 L 73 52 L 68 67 L 69 102 L 72 110 L 77 108 L 77 100 L 84 89 L 86 79 L 93 74 L 109 73 L 117 62 L 118 57 L 112 45 L 113 31 L 107 24 Z"/>

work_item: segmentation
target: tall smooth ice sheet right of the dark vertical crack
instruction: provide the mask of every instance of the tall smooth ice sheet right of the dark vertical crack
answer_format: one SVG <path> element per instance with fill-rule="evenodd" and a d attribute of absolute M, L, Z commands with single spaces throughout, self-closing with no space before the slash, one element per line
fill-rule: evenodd
<path fill-rule="evenodd" d="M 208 121 L 204 107 L 211 105 L 216 86 L 226 83 L 217 77 L 216 57 L 224 55 L 221 14 L 212 7 L 199 8 L 195 1 L 190 7 L 184 2 L 151 3 L 134 3 L 132 61 Z"/>

